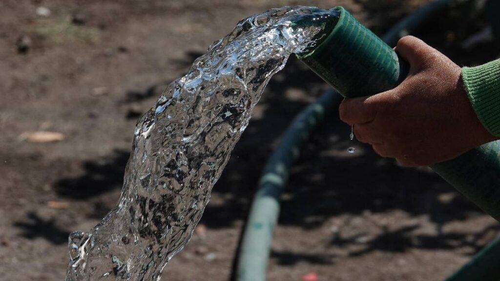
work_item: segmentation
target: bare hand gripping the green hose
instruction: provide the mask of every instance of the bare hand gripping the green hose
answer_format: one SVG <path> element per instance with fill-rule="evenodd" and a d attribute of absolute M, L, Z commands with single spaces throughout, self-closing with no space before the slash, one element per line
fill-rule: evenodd
<path fill-rule="evenodd" d="M 359 141 L 404 166 L 422 166 L 497 139 L 477 118 L 458 65 L 413 36 L 401 38 L 395 50 L 410 65 L 400 85 L 340 104 L 340 119 L 354 125 Z"/>

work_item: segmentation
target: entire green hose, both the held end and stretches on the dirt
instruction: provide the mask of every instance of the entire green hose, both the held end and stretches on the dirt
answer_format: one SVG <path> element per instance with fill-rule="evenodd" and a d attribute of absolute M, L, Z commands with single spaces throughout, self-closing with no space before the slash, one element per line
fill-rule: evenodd
<path fill-rule="evenodd" d="M 395 43 L 399 36 L 421 26 L 428 18 L 443 11 L 450 2 L 452 0 L 437 0 L 424 6 L 396 24 L 386 33 L 384 40 Z M 343 8 L 339 7 L 339 9 L 342 10 L 342 14 L 338 26 L 344 26 L 343 28 L 348 32 L 335 30 L 336 27 L 333 28 L 331 32 L 335 36 L 328 36 L 313 52 L 301 54 L 299 58 L 347 97 L 374 94 L 396 86 L 407 73 L 405 63 L 388 45 L 367 28 L 362 27 L 348 12 Z M 375 52 L 373 52 L 374 49 Z M 342 54 L 340 59 L 345 64 L 335 63 L 335 60 L 332 59 L 335 53 Z M 358 66 L 345 68 L 354 64 L 352 61 L 356 61 Z M 325 96 L 328 95 L 332 95 L 332 93 L 325 94 Z M 325 106 L 323 110 L 334 110 L 332 106 L 334 103 L 328 104 L 329 106 Z M 308 115 L 314 116 L 313 110 L 311 111 L 309 107 L 301 112 L 299 117 L 288 127 L 276 151 L 270 157 L 252 203 L 243 235 L 237 264 L 237 280 L 265 280 L 272 230 L 279 213 L 279 195 L 293 160 L 290 155 L 298 155 L 298 148 L 314 129 L 315 122 L 311 122 L 309 125 L 303 121 L 309 119 Z M 311 118 L 311 120 L 317 119 Z M 300 130 L 305 132 L 303 137 L 297 138 L 297 134 L 288 134 L 289 131 L 294 130 L 297 123 L 301 123 Z M 305 127 L 302 127 L 304 124 Z M 500 186 L 500 177 L 496 175 L 498 167 L 500 167 L 498 145 L 499 143 L 495 142 L 485 144 L 456 159 L 431 166 L 467 198 L 496 219 L 500 218 L 498 211 L 500 209 L 500 192 L 495 190 L 495 186 Z M 487 171 L 487 176 L 484 176 L 481 171 Z M 500 246 L 497 244 L 500 245 L 498 239 L 485 250 L 479 252 L 455 274 L 456 276 L 450 277 L 454 279 L 447 281 L 465 280 L 459 279 L 460 276 L 484 276 L 480 280 L 496 280 L 495 277 L 498 276 L 495 274 L 496 271 L 491 270 L 484 273 L 477 272 L 477 270 L 490 268 L 495 264 L 495 260 L 491 256 L 498 256 Z M 474 264 L 477 262 L 490 266 L 475 266 Z"/>

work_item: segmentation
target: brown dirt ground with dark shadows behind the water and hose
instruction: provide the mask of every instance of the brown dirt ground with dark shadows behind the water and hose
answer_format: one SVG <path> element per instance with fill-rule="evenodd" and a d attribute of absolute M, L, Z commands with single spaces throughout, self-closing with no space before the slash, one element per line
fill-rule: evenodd
<path fill-rule="evenodd" d="M 138 116 L 239 19 L 283 5 L 343 5 L 381 34 L 425 2 L 1 0 L 0 279 L 63 279 L 68 233 L 91 228 L 119 196 Z M 469 22 L 457 8 L 417 35 L 462 65 L 496 57 L 491 42 L 460 47 L 484 27 Z M 201 225 L 162 280 L 230 278 L 265 160 L 324 89 L 294 58 L 272 79 Z M 309 272 L 319 280 L 442 280 L 500 232 L 428 169 L 402 168 L 359 143 L 347 153 L 348 130 L 332 114 L 294 166 L 269 280 Z M 34 131 L 63 139 L 32 142 Z"/>

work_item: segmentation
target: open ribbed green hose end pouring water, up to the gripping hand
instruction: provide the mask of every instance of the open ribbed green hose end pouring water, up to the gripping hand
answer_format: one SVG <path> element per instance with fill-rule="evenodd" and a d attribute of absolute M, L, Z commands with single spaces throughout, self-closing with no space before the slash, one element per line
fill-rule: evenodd
<path fill-rule="evenodd" d="M 397 86 L 408 73 L 407 63 L 343 7 L 335 9 L 340 16 L 328 36 L 298 58 L 345 97 Z"/>

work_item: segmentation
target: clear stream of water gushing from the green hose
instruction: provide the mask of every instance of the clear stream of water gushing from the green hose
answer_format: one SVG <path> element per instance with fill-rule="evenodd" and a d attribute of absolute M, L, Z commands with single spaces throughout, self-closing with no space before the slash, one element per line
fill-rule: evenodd
<path fill-rule="evenodd" d="M 297 6 L 245 18 L 168 85 L 137 122 L 118 204 L 89 232 L 70 234 L 66 281 L 159 280 L 270 77 L 317 44 L 332 16 Z"/>

